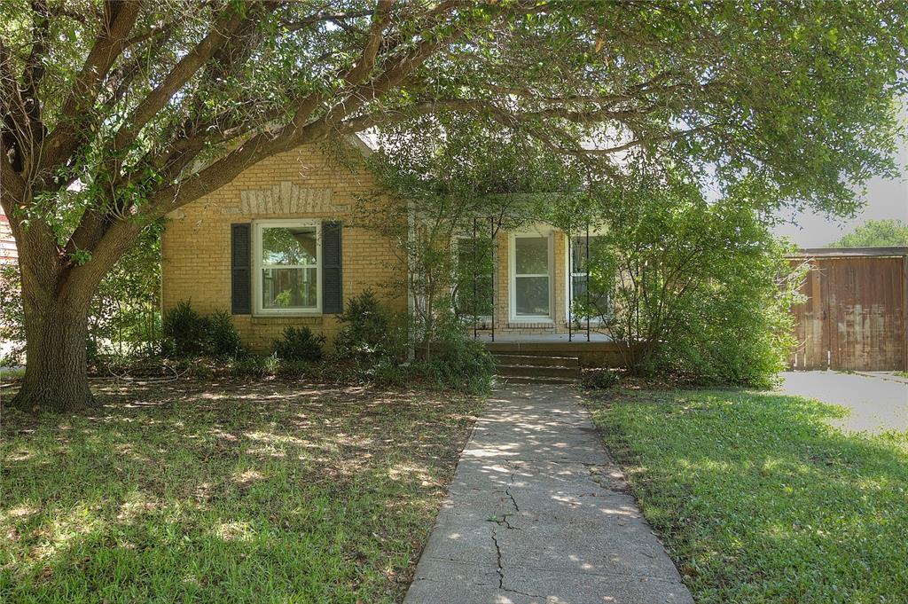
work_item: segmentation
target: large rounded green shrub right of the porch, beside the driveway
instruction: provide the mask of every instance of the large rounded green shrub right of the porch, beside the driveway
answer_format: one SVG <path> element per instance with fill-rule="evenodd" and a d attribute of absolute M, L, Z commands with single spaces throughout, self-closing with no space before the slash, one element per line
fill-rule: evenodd
<path fill-rule="evenodd" d="M 791 346 L 798 271 L 747 203 L 697 183 L 646 179 L 607 206 L 578 319 L 598 319 L 629 371 L 700 384 L 771 385 Z M 740 192 L 738 193 L 740 194 Z"/>

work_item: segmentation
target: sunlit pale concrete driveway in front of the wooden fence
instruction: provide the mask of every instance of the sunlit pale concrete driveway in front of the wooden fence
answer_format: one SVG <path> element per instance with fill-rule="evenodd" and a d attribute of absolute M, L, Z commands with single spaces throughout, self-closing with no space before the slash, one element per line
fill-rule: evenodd
<path fill-rule="evenodd" d="M 782 391 L 841 405 L 851 414 L 835 424 L 848 431 L 908 430 L 908 381 L 879 374 L 787 371 Z"/>

